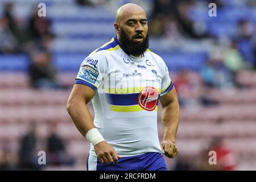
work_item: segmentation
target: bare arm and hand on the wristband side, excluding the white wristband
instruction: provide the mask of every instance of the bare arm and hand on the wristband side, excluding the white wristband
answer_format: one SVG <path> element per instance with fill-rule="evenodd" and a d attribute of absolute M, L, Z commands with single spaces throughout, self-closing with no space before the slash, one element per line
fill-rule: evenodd
<path fill-rule="evenodd" d="M 95 128 L 92 116 L 86 106 L 92 100 L 94 94 L 94 90 L 89 86 L 75 84 L 68 98 L 67 111 L 83 136 L 90 129 Z M 101 163 L 118 163 L 118 158 L 121 158 L 117 155 L 114 148 L 105 141 L 97 143 L 94 146 L 94 150 Z"/>

